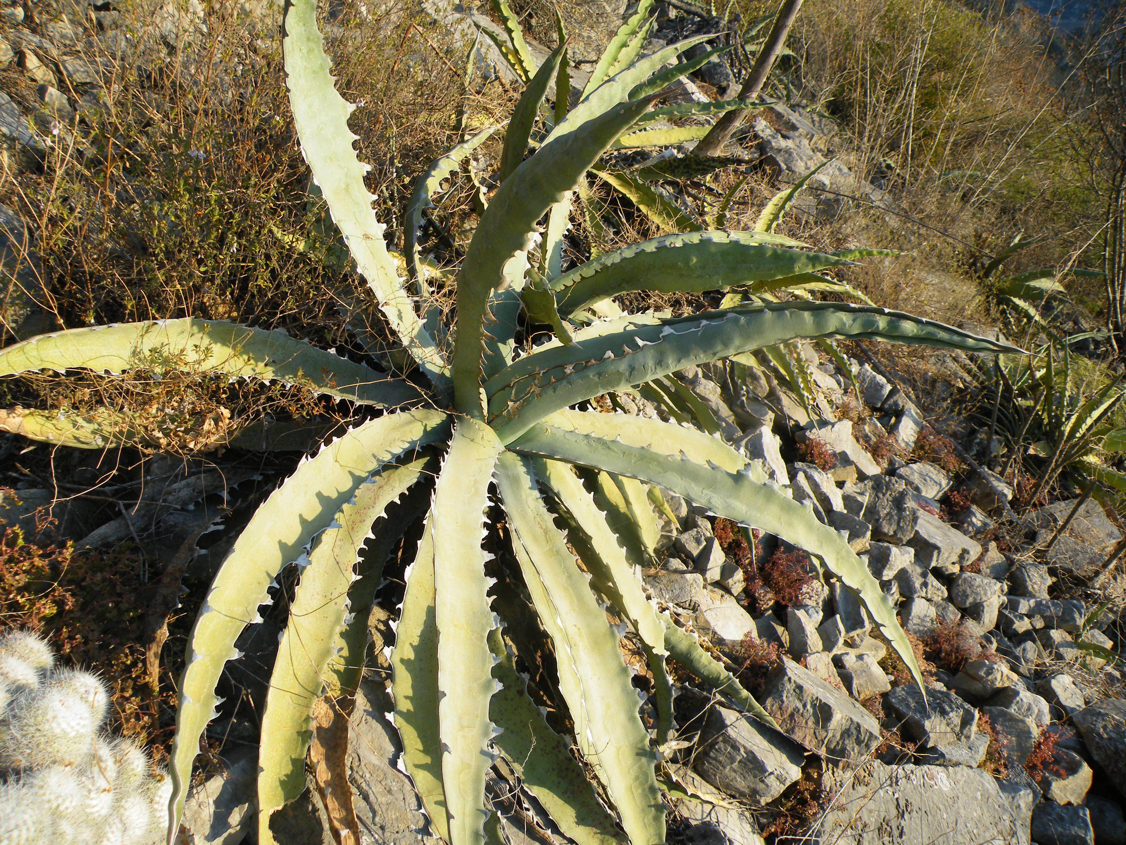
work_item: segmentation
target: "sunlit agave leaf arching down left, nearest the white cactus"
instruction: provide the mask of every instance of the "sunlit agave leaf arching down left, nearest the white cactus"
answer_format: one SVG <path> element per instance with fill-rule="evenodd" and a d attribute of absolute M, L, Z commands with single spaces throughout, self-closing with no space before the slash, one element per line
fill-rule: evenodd
<path fill-rule="evenodd" d="M 402 411 L 373 419 L 304 461 L 254 512 L 212 581 L 188 639 L 170 765 L 170 836 L 184 812 L 199 737 L 218 705 L 215 685 L 226 661 L 238 656 L 235 639 L 260 620 L 258 607 L 269 602 L 274 578 L 376 469 L 448 433 L 447 415 L 440 411 Z"/>

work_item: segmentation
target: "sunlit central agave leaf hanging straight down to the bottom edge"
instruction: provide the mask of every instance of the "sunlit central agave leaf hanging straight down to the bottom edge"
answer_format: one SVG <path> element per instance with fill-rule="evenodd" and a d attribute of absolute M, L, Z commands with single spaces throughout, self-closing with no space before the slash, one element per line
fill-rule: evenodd
<path fill-rule="evenodd" d="M 488 426 L 462 417 L 434 495 L 438 723 L 450 845 L 484 842 L 485 772 L 492 765 L 489 699 L 497 690 L 485 640 L 497 617 L 485 592 L 484 512 L 503 451 Z"/>

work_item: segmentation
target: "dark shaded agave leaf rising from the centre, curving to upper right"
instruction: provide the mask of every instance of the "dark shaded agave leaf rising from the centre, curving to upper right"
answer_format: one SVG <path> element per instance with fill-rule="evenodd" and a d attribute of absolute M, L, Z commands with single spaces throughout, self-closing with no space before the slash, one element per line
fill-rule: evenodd
<path fill-rule="evenodd" d="M 536 221 L 575 187 L 618 133 L 647 108 L 649 100 L 622 104 L 591 121 L 583 132 L 548 141 L 497 189 L 457 274 L 453 368 L 456 406 L 462 412 L 482 413 L 479 377 L 490 294 L 503 286 L 506 273 L 522 277 Z M 509 268 L 510 263 L 519 272 Z"/>

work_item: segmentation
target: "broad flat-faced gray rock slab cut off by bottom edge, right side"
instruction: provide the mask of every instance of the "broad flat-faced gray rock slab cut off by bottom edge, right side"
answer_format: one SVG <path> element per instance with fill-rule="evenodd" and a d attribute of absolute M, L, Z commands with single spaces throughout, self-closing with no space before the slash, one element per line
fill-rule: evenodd
<path fill-rule="evenodd" d="M 981 768 L 870 760 L 837 780 L 817 845 L 1028 845 L 1028 819 Z"/>

